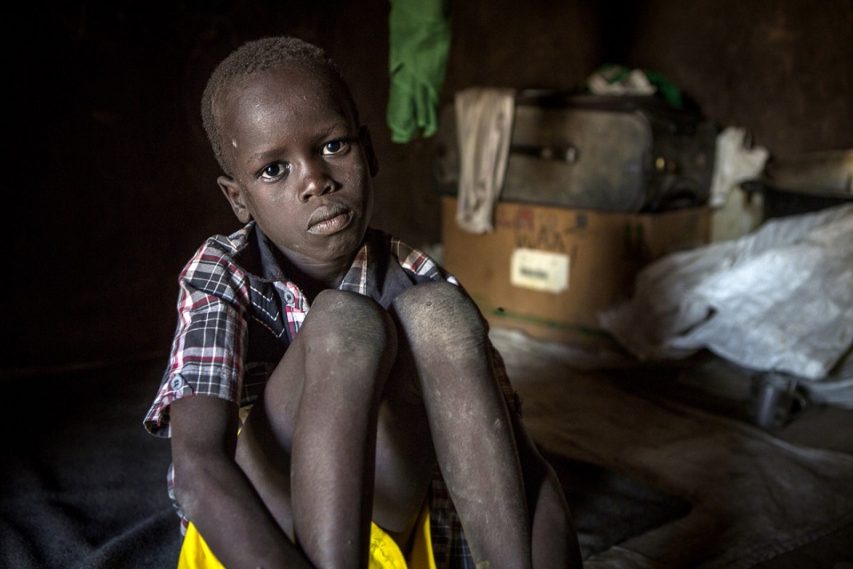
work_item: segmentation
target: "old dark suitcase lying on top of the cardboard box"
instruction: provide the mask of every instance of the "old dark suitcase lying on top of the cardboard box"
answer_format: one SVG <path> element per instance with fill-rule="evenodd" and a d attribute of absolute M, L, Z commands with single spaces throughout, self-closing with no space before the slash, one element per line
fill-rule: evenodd
<path fill-rule="evenodd" d="M 500 201 L 602 212 L 705 204 L 719 127 L 654 96 L 519 92 Z M 434 182 L 455 195 L 453 105 L 442 109 Z"/>

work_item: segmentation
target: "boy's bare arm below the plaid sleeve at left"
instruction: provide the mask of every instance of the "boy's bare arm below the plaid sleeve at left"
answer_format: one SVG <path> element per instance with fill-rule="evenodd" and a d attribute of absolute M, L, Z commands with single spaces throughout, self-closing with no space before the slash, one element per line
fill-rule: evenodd
<path fill-rule="evenodd" d="M 231 568 L 311 567 L 235 462 L 237 406 L 219 397 L 171 404 L 175 493 L 219 561 Z"/>

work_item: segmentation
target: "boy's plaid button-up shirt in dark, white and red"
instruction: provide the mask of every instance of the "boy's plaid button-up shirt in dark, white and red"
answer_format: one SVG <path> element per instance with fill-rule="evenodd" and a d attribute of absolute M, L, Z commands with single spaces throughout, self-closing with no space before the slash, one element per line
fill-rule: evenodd
<path fill-rule="evenodd" d="M 280 254 L 254 222 L 231 236 L 213 236 L 179 277 L 179 323 L 163 382 L 147 413 L 146 429 L 170 436 L 169 405 L 180 397 L 207 395 L 251 405 L 299 332 L 309 309 L 299 287 L 284 276 Z M 378 229 L 369 229 L 340 290 L 370 296 L 387 308 L 397 294 L 429 281 L 458 282 L 423 252 Z M 506 368 L 492 348 L 507 405 L 520 412 Z M 172 469 L 167 477 L 174 501 Z M 430 487 L 430 531 L 439 569 L 473 569 L 450 494 L 436 473 Z"/>

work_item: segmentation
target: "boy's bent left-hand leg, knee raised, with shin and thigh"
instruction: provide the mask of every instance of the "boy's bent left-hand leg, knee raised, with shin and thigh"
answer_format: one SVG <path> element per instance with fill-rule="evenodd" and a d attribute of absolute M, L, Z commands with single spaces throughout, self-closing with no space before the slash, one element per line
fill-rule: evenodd
<path fill-rule="evenodd" d="M 367 563 L 379 398 L 395 353 L 376 302 L 319 294 L 238 437 L 237 461 L 317 566 Z"/>

